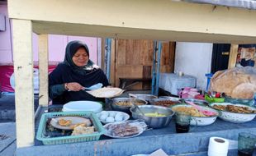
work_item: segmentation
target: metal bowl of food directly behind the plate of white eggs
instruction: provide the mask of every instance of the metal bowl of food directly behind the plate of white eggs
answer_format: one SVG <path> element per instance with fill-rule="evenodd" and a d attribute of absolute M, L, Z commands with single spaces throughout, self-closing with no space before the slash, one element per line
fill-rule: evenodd
<path fill-rule="evenodd" d="M 130 113 L 130 108 L 132 107 L 132 102 L 138 106 L 145 105 L 148 103 L 144 99 L 114 98 L 114 99 L 111 99 L 111 108 L 115 111 Z"/>

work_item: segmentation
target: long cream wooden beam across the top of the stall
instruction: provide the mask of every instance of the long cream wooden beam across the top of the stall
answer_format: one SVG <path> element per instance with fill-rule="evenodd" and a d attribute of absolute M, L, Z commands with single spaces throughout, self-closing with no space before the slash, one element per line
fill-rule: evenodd
<path fill-rule="evenodd" d="M 171 0 L 8 0 L 8 11 L 10 18 L 32 20 L 37 34 L 224 44 L 256 40 L 256 11 L 237 7 Z"/>

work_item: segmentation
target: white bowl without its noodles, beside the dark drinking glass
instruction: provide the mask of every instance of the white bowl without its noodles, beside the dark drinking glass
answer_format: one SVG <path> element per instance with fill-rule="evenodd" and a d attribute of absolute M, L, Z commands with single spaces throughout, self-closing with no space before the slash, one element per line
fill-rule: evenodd
<path fill-rule="evenodd" d="M 216 111 L 213 108 L 206 107 L 206 106 L 201 106 L 201 105 L 198 105 L 198 106 L 203 108 L 204 110 L 211 111 L 211 112 L 216 112 L 216 115 L 215 116 L 211 116 L 211 117 L 191 117 L 192 120 L 190 122 L 190 125 L 193 125 L 193 126 L 206 126 L 206 125 L 211 125 L 213 122 L 216 121 L 216 118 L 219 115 L 218 111 Z M 178 107 L 192 108 L 192 105 L 176 104 L 176 105 L 173 105 L 171 108 L 173 110 L 173 108 L 178 108 Z"/>

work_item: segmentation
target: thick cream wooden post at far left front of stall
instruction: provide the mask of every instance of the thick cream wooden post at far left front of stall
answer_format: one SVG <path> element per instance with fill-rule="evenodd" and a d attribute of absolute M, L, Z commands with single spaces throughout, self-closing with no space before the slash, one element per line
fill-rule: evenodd
<path fill-rule="evenodd" d="M 12 19 L 17 147 L 34 145 L 32 24 Z"/>

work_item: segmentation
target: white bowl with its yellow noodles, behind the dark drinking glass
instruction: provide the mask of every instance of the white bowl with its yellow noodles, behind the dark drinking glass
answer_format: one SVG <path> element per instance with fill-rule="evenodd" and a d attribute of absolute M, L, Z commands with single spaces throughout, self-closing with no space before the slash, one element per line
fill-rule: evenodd
<path fill-rule="evenodd" d="M 209 108 L 206 106 L 198 105 L 203 110 L 215 112 L 213 116 L 206 116 L 202 112 L 199 112 L 197 108 L 194 108 L 192 105 L 187 105 L 185 103 L 173 105 L 171 108 L 174 112 L 187 112 L 191 115 L 192 121 L 190 122 L 193 126 L 206 126 L 211 125 L 216 121 L 216 118 L 219 115 L 219 112 L 213 108 Z"/>

